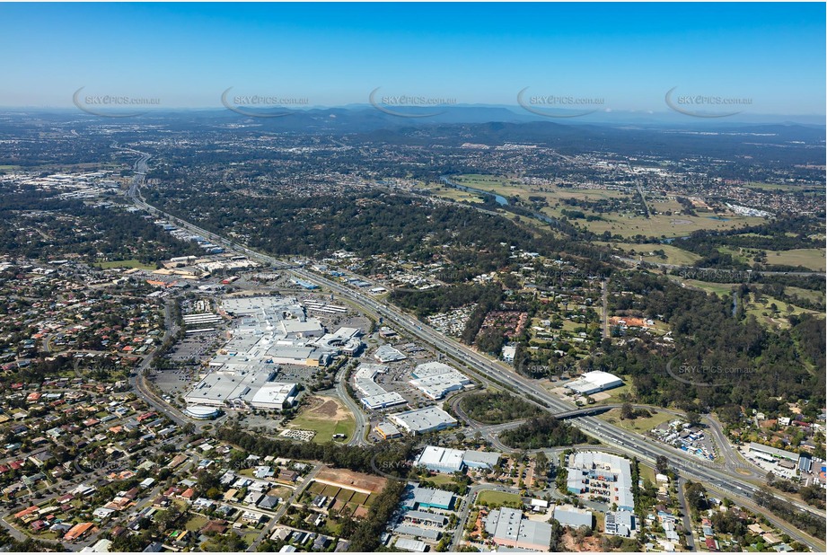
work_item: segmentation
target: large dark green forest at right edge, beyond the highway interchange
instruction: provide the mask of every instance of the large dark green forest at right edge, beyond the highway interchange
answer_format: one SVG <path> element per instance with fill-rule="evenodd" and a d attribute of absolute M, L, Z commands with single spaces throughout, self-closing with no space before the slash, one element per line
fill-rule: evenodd
<path fill-rule="evenodd" d="M 823 338 L 818 339 L 823 320 L 804 317 L 791 330 L 768 330 L 752 317 L 734 317 L 729 298 L 655 275 L 638 272 L 622 287 L 636 295 L 618 297 L 614 310 L 634 309 L 669 322 L 675 346 L 672 351 L 639 342 L 622 348 L 607 343 L 594 358 L 598 366 L 630 374 L 637 401 L 700 411 L 730 404 L 771 411 L 779 402 L 800 399 L 823 405 Z"/>

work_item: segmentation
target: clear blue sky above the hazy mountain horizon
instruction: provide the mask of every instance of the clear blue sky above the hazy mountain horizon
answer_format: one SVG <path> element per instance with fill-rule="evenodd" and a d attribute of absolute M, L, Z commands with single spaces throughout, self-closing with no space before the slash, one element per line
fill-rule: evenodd
<path fill-rule="evenodd" d="M 825 5 L 0 4 L 0 106 L 72 94 L 220 106 L 233 93 L 516 105 L 517 93 L 667 110 L 664 94 L 823 114 Z"/>

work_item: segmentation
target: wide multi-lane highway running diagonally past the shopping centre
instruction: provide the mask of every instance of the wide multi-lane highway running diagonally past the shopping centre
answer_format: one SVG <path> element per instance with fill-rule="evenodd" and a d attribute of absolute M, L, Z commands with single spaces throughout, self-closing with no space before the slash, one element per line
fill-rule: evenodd
<path fill-rule="evenodd" d="M 144 153 L 139 153 L 144 154 Z M 148 156 L 144 154 L 145 156 Z M 146 158 L 148 160 L 148 157 Z M 144 156 L 142 156 L 144 160 Z M 140 160 L 138 161 L 140 163 Z M 137 164 L 137 163 L 136 163 Z M 143 166 L 136 165 L 145 172 L 145 160 Z M 143 198 L 140 198 L 140 184 L 143 182 L 143 176 L 138 180 L 133 181 L 133 186 L 128 190 L 128 198 L 130 198 L 137 207 L 141 207 L 151 214 L 156 216 L 164 216 L 170 219 L 176 225 L 188 229 L 192 233 L 197 233 L 208 238 L 216 244 L 222 244 L 235 251 L 241 251 L 253 260 L 259 260 L 276 269 L 285 269 L 295 274 L 296 277 L 302 278 L 306 281 L 315 283 L 319 286 L 327 287 L 331 292 L 348 299 L 352 304 L 356 304 L 368 313 L 374 313 L 382 316 L 385 321 L 396 326 L 401 331 L 410 336 L 422 340 L 428 345 L 435 348 L 437 351 L 444 353 L 444 355 L 453 358 L 454 361 L 464 366 L 471 374 L 483 378 L 485 381 L 498 383 L 505 386 L 512 392 L 516 392 L 526 399 L 533 399 L 539 401 L 544 409 L 549 410 L 553 414 L 566 413 L 574 410 L 575 407 L 567 401 L 563 401 L 558 397 L 538 387 L 536 383 L 532 383 L 528 378 L 516 374 L 513 369 L 502 365 L 497 361 L 493 361 L 488 357 L 484 357 L 478 352 L 468 348 L 462 343 L 445 337 L 443 334 L 437 332 L 427 324 L 418 322 L 407 313 L 402 313 L 400 309 L 390 305 L 383 304 L 369 295 L 365 295 L 361 291 L 344 286 L 339 282 L 332 281 L 328 278 L 322 277 L 311 271 L 286 264 L 274 257 L 262 254 L 257 251 L 252 251 L 246 246 L 237 242 L 230 241 L 224 237 L 208 232 L 197 225 L 191 225 L 188 222 L 180 220 L 180 218 L 168 215 L 163 211 L 158 210 L 145 203 Z M 613 445 L 621 451 L 637 456 L 638 459 L 646 459 L 649 462 L 655 462 L 659 456 L 665 456 L 669 459 L 676 471 L 679 471 L 683 476 L 691 480 L 699 480 L 710 489 L 717 489 L 726 496 L 736 498 L 739 500 L 746 500 L 751 502 L 752 496 L 758 491 L 765 491 L 766 488 L 754 485 L 752 482 L 744 480 L 743 476 L 736 472 L 736 469 L 730 469 L 726 466 L 718 467 L 715 463 L 699 461 L 696 457 L 690 454 L 682 454 L 673 448 L 657 444 L 645 436 L 640 436 L 628 432 L 620 427 L 613 426 L 603 420 L 594 417 L 578 418 L 573 423 L 583 429 L 583 431 L 591 436 L 596 436 L 603 443 Z M 774 493 L 780 499 L 790 501 L 789 498 Z M 807 507 L 802 503 L 791 501 L 796 509 L 806 511 L 814 515 L 823 516 L 822 513 L 812 507 Z M 801 533 L 796 528 L 784 521 L 779 520 L 775 516 L 762 511 L 772 522 L 779 526 L 779 529 L 789 534 L 799 542 L 804 543 L 811 549 L 822 551 L 824 549 L 824 542 L 820 542 L 811 538 L 810 536 Z"/>

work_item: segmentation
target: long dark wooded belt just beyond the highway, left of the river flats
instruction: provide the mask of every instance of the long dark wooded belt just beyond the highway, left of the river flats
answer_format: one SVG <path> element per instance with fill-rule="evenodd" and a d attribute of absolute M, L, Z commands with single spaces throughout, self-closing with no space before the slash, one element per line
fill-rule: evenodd
<path fill-rule="evenodd" d="M 230 194 L 220 203 L 211 195 L 169 194 L 151 190 L 147 198 L 184 219 L 198 215 L 200 224 L 216 233 L 248 233 L 251 247 L 274 255 L 323 256 L 343 249 L 363 257 L 399 253 L 425 261 L 445 244 L 475 250 L 500 242 L 518 248 L 532 244 L 532 234 L 506 218 L 382 191 L 309 198 Z"/>

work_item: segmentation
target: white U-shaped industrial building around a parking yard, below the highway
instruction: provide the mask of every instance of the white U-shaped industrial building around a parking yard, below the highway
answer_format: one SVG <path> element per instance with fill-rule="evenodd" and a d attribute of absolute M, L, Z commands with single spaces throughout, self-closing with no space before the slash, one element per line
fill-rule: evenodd
<path fill-rule="evenodd" d="M 568 457 L 567 489 L 581 498 L 607 498 L 621 510 L 633 511 L 629 461 L 616 454 L 580 452 Z"/>

